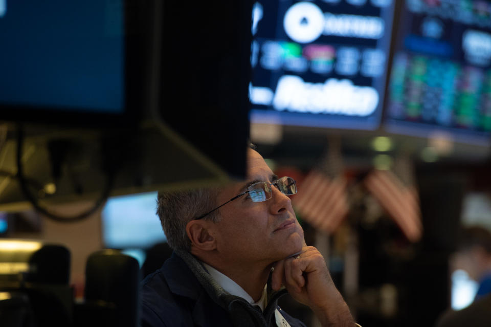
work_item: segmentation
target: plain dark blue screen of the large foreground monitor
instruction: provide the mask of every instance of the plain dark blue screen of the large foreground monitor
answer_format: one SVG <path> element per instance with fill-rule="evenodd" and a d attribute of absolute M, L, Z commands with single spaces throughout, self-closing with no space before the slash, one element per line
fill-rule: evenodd
<path fill-rule="evenodd" d="M 124 111 L 122 0 L 0 0 L 0 104 Z"/>

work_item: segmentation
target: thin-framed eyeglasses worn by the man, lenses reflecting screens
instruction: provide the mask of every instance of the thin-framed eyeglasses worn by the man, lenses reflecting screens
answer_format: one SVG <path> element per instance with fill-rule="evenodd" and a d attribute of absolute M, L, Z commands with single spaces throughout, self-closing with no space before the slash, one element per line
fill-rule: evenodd
<path fill-rule="evenodd" d="M 273 189 L 271 186 L 275 186 L 281 193 L 285 195 L 293 195 L 297 193 L 297 182 L 291 177 L 282 177 L 273 183 L 270 182 L 258 182 L 254 183 L 251 186 L 247 188 L 247 191 L 242 192 L 229 201 L 227 201 L 224 204 L 219 205 L 215 209 L 200 215 L 199 217 L 195 218 L 195 220 L 202 219 L 206 215 L 212 213 L 213 211 L 217 210 L 218 208 L 221 208 L 222 206 L 225 206 L 227 203 L 232 202 L 238 198 L 240 198 L 242 195 L 248 194 L 248 197 L 252 200 L 252 202 L 263 202 L 266 200 L 270 200 L 273 197 Z"/>

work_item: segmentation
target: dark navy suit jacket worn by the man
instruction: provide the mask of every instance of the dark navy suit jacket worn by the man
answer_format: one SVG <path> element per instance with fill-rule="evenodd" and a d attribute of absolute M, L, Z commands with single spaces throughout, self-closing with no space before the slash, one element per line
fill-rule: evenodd
<path fill-rule="evenodd" d="M 292 327 L 305 327 L 276 305 L 285 293 L 272 296 L 264 314 L 237 296 L 214 298 L 185 261 L 173 253 L 161 269 L 142 282 L 142 327 L 275 326 L 276 308 Z"/>

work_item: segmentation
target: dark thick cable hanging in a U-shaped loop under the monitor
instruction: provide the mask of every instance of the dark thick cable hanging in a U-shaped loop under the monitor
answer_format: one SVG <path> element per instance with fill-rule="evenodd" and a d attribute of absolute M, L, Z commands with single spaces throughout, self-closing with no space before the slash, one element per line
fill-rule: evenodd
<path fill-rule="evenodd" d="M 82 213 L 78 213 L 71 216 L 63 216 L 49 211 L 39 204 L 38 199 L 29 191 L 28 182 L 29 180 L 24 176 L 23 163 L 22 163 L 22 148 L 24 143 L 24 131 L 21 124 L 17 124 L 17 179 L 20 184 L 20 188 L 24 193 L 27 200 L 33 205 L 36 211 L 46 215 L 49 219 L 62 223 L 71 223 L 83 220 L 84 218 L 90 216 L 96 212 L 99 207 L 101 207 L 109 197 L 109 193 L 113 186 L 114 172 L 107 172 L 107 182 L 105 189 L 101 193 L 101 197 L 95 202 L 94 206 Z"/>

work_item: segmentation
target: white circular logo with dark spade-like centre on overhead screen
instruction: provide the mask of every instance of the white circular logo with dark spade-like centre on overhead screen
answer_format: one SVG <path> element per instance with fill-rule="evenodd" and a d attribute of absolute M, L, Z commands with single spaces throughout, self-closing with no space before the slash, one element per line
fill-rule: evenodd
<path fill-rule="evenodd" d="M 316 40 L 324 30 L 324 13 L 309 2 L 299 2 L 290 7 L 283 19 L 286 34 L 299 43 Z"/>

